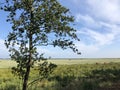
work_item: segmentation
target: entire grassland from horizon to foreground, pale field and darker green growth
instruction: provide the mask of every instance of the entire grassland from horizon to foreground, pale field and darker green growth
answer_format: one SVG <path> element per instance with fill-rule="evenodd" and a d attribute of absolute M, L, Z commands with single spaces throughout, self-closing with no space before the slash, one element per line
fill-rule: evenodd
<path fill-rule="evenodd" d="M 48 60 L 57 68 L 29 90 L 120 90 L 119 59 Z M 21 90 L 21 80 L 11 73 L 14 61 L 0 60 L 0 90 Z M 39 78 L 33 68 L 30 81 Z"/>

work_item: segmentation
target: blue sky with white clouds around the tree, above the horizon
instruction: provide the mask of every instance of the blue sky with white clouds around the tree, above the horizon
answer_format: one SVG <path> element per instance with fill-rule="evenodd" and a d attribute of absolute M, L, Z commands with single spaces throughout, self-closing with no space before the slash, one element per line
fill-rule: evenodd
<path fill-rule="evenodd" d="M 58 0 L 70 9 L 80 42 L 75 42 L 81 55 L 72 50 L 39 47 L 38 51 L 52 58 L 120 58 L 120 0 Z M 4 45 L 11 25 L 7 13 L 0 11 L 0 58 L 8 58 Z"/>

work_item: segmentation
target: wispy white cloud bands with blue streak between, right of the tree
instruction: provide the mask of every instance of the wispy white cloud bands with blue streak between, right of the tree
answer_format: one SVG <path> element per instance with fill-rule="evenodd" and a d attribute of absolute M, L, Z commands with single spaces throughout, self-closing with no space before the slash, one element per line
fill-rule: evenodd
<path fill-rule="evenodd" d="M 80 13 L 76 15 L 76 22 L 84 25 L 77 33 L 87 35 L 100 46 L 112 44 L 120 36 L 120 26 L 116 23 L 104 22 Z"/>

